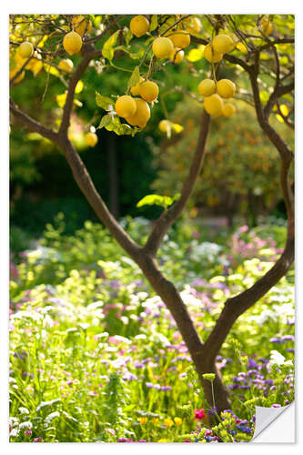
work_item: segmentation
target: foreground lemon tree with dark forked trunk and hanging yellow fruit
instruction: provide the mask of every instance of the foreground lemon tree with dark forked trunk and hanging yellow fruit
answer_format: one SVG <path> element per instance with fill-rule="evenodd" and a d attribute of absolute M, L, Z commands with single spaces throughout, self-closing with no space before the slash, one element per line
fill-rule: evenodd
<path fill-rule="evenodd" d="M 188 53 L 188 54 L 187 54 Z M 95 66 L 128 72 L 126 86 L 119 93 L 103 93 L 96 87 L 96 105 L 100 107 L 99 125 L 117 135 L 139 134 L 146 127 L 157 98 L 161 101 L 163 86 L 157 83 L 166 66 L 184 65 L 185 56 L 191 61 L 203 53 L 209 63 L 208 74 L 197 78 L 197 89 L 203 102 L 195 152 L 184 179 L 180 194 L 174 197 L 148 196 L 144 203 L 164 207 L 155 221 L 146 243 L 138 245 L 118 224 L 97 192 L 87 169 L 73 145 L 69 126 L 73 109 L 79 105 L 76 94 L 84 87 L 86 70 Z M 116 241 L 141 268 L 152 288 L 167 305 L 176 320 L 177 328 L 187 344 L 208 402 L 212 403 L 210 382 L 206 373 L 215 373 L 215 399 L 218 410 L 230 407 L 227 389 L 217 370 L 215 359 L 234 322 L 248 308 L 258 302 L 291 266 L 294 259 L 294 206 L 288 181 L 293 153 L 287 142 L 272 126 L 271 114 L 276 110 L 280 118 L 293 127 L 294 91 L 294 18 L 290 15 L 11 15 L 10 16 L 10 110 L 15 119 L 31 131 L 44 136 L 59 147 L 66 157 L 78 187 L 93 207 L 97 217 L 108 228 Z M 194 56 L 194 58 L 193 58 Z M 119 59 L 127 62 L 120 64 Z M 235 80 L 221 77 L 226 66 L 233 66 L 247 75 L 247 86 L 235 85 Z M 43 110 L 35 119 L 28 116 L 15 99 L 14 86 L 22 84 L 26 73 L 47 74 L 47 86 L 52 76 L 59 77 L 66 86 L 60 96 L 61 115 L 47 124 L 40 123 Z M 197 77 L 193 63 L 188 65 L 187 77 Z M 169 87 L 197 97 L 182 87 L 182 78 L 167 79 Z M 243 88 L 243 90 L 242 90 Z M 243 93 L 242 93 L 243 92 Z M 43 96 L 45 96 L 45 93 Z M 288 237 L 284 252 L 277 263 L 244 292 L 228 298 L 217 322 L 202 340 L 187 312 L 177 288 L 164 277 L 157 264 L 157 251 L 167 230 L 187 206 L 199 176 L 207 142 L 211 117 L 236 115 L 236 103 L 230 100 L 243 95 L 254 105 L 258 124 L 276 147 L 280 157 L 280 186 L 288 213 Z M 200 98 L 199 98 L 200 99 Z M 287 106 L 288 109 L 282 109 Z M 105 112 L 101 112 L 103 109 Z M 275 115 L 276 115 L 275 113 Z M 167 109 L 163 104 L 163 115 Z M 164 118 L 161 128 L 171 131 L 179 126 Z M 95 119 L 94 119 L 95 122 Z M 96 144 L 95 127 L 87 131 L 86 143 Z M 266 150 L 264 151 L 266 153 Z M 262 157 L 258 159 L 261 161 Z M 134 176 L 135 179 L 139 178 Z M 181 264 L 180 264 L 181 266 Z"/>

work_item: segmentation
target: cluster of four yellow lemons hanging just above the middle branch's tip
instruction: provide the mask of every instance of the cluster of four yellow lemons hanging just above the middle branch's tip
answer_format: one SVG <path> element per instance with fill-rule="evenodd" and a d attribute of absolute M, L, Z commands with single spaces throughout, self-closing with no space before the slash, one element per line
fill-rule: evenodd
<path fill-rule="evenodd" d="M 200 95 L 205 96 L 204 108 L 210 116 L 231 117 L 235 114 L 235 106 L 224 103 L 224 99 L 236 94 L 236 86 L 229 79 L 220 79 L 217 83 L 212 79 L 204 79 L 197 89 Z"/>

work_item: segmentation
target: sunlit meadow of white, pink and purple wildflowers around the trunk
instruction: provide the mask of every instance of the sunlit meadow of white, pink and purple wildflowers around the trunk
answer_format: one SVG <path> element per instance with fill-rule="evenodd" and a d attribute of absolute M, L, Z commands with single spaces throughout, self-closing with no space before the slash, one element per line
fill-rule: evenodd
<path fill-rule="evenodd" d="M 135 238 L 148 232 L 144 218 L 122 223 Z M 269 227 L 220 229 L 217 242 L 195 227 L 165 239 L 160 258 L 202 339 L 222 299 L 271 266 L 286 229 L 273 226 L 275 239 Z M 21 256 L 11 263 L 11 441 L 248 441 L 256 405 L 294 399 L 292 270 L 238 319 L 217 356 L 233 406 L 214 426 L 216 402 L 207 404 L 175 321 L 104 228 L 87 221 L 66 236 L 60 215 Z"/>

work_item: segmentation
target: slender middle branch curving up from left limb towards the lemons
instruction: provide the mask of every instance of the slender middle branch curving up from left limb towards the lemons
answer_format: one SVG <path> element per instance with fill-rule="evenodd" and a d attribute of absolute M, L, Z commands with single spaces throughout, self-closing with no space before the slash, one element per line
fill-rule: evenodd
<path fill-rule="evenodd" d="M 149 238 L 147 238 L 146 245 L 143 248 L 143 250 L 152 257 L 156 255 L 157 249 L 160 247 L 162 239 L 167 233 L 167 230 L 169 229 L 169 227 L 171 227 L 173 223 L 175 223 L 177 217 L 180 216 L 183 209 L 187 205 L 189 197 L 191 196 L 194 190 L 195 183 L 200 173 L 205 155 L 208 126 L 209 116 L 207 112 L 204 110 L 200 121 L 200 131 L 197 141 L 196 152 L 193 157 L 193 161 L 191 163 L 189 172 L 187 174 L 187 179 L 182 188 L 181 196 L 172 207 L 168 208 L 168 210 L 163 212 L 161 217 L 157 219 Z"/>

